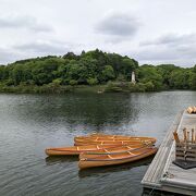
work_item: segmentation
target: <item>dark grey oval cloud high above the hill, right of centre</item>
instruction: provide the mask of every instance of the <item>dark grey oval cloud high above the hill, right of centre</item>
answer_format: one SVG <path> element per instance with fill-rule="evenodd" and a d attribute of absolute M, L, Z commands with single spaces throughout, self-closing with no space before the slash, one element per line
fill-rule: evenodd
<path fill-rule="evenodd" d="M 125 13 L 110 13 L 96 26 L 96 32 L 117 37 L 133 36 L 139 27 L 137 19 Z"/>

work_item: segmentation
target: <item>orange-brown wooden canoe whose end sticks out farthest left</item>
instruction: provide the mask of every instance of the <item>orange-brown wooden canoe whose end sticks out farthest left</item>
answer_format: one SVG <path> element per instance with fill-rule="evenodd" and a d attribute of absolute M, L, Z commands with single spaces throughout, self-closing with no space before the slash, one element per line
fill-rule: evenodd
<path fill-rule="evenodd" d="M 45 150 L 45 152 L 48 156 L 79 155 L 81 152 L 84 152 L 84 151 L 101 150 L 103 148 L 108 149 L 108 148 L 112 148 L 115 146 L 118 146 L 118 145 L 115 145 L 115 144 L 113 144 L 113 145 L 87 145 L 87 146 L 47 148 Z"/>

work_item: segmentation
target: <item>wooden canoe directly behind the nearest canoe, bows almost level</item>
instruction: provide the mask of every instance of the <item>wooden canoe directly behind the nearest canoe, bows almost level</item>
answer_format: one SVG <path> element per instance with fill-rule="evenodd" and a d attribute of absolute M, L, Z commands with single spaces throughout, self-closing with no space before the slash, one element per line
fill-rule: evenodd
<path fill-rule="evenodd" d="M 133 151 L 137 151 L 139 149 L 143 148 L 148 148 L 150 146 L 146 146 L 146 145 L 135 145 L 135 146 L 115 146 L 115 147 L 111 147 L 111 148 L 103 148 L 100 150 L 93 150 L 93 151 L 86 151 L 86 152 L 82 152 L 79 154 L 79 159 L 88 159 L 88 158 L 96 158 L 98 156 L 103 156 L 103 155 L 117 155 L 117 154 L 123 154 L 123 152 L 133 152 Z"/>

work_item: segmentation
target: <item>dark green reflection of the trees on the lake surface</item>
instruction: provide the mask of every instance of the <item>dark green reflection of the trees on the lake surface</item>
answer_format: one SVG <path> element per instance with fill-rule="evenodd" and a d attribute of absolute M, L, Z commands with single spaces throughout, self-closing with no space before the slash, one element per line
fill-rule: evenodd
<path fill-rule="evenodd" d="M 131 97 L 125 94 L 44 95 L 26 96 L 26 99 L 28 101 L 24 100 L 22 106 L 15 107 L 21 120 L 24 118 L 36 122 L 86 124 L 99 130 L 106 125 L 134 122 L 138 114 Z"/>

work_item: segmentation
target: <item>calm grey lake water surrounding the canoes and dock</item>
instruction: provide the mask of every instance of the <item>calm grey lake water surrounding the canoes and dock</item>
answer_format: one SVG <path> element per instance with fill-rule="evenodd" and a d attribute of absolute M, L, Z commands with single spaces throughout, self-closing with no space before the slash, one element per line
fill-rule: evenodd
<path fill-rule="evenodd" d="M 0 195 L 143 195 L 151 158 L 79 171 L 77 158 L 47 158 L 45 148 L 97 131 L 163 139 L 196 91 L 150 94 L 0 94 Z"/>

